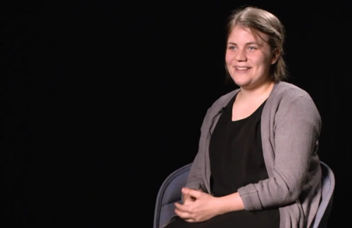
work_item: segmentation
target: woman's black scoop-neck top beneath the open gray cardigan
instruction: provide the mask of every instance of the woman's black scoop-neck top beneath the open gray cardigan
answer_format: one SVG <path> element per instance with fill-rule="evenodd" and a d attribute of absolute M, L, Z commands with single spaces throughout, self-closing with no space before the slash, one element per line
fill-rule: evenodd
<path fill-rule="evenodd" d="M 268 179 L 260 132 L 260 118 L 266 101 L 249 117 L 232 121 L 235 99 L 236 96 L 220 115 L 210 139 L 210 187 L 214 196 L 233 194 L 241 186 Z M 279 227 L 278 208 L 229 214 L 225 216 L 228 220 L 226 227 L 237 227 L 234 224 L 242 224 L 241 227 Z"/>

